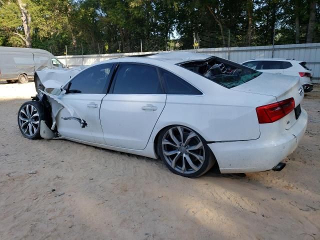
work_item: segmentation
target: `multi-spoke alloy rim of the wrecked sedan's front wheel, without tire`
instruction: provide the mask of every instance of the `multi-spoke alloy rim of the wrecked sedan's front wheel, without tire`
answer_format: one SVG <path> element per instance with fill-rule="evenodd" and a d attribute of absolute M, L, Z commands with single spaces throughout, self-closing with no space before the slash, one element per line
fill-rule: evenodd
<path fill-rule="evenodd" d="M 19 112 L 19 126 L 27 136 L 33 136 L 39 127 L 39 113 L 31 104 L 24 105 Z"/>

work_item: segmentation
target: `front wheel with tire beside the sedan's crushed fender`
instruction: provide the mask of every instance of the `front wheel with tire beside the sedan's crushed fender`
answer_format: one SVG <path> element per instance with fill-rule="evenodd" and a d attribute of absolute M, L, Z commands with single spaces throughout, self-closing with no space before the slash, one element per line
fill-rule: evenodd
<path fill-rule="evenodd" d="M 28 139 L 40 139 L 40 121 L 44 120 L 43 106 L 38 101 L 24 102 L 17 115 L 22 135 Z"/>

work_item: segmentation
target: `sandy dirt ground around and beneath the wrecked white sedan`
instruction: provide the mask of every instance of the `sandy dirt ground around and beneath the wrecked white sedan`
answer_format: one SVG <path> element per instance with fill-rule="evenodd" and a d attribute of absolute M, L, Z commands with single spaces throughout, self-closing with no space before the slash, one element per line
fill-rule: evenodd
<path fill-rule="evenodd" d="M 319 86 L 282 171 L 196 179 L 160 160 L 23 138 L 16 113 L 31 95 L 33 82 L 0 84 L 1 240 L 320 239 Z"/>

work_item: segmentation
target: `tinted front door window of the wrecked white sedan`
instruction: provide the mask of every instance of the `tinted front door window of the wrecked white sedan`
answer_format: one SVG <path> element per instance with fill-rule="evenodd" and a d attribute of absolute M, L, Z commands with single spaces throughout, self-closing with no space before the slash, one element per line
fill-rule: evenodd
<path fill-rule="evenodd" d="M 106 93 L 113 64 L 89 67 L 77 74 L 70 82 L 68 93 Z"/>

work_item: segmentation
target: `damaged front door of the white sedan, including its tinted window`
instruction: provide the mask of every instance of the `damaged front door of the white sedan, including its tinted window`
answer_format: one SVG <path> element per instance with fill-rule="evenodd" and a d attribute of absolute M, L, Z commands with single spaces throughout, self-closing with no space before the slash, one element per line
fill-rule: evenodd
<path fill-rule="evenodd" d="M 60 98 L 67 107 L 62 108 L 56 117 L 57 129 L 62 136 L 105 144 L 100 105 L 106 94 L 112 66 L 112 63 L 106 63 L 89 67 L 70 81 L 66 94 Z M 74 115 L 77 117 L 72 117 Z"/>

